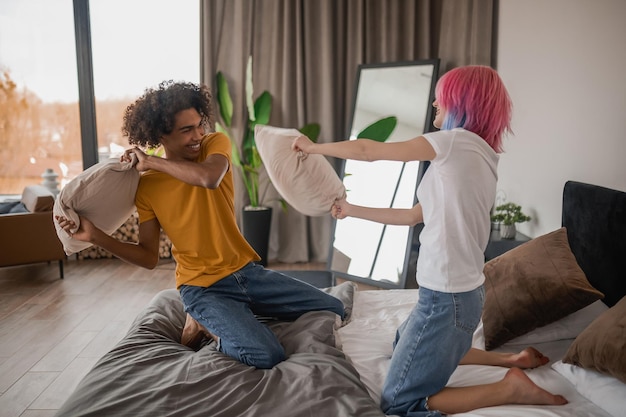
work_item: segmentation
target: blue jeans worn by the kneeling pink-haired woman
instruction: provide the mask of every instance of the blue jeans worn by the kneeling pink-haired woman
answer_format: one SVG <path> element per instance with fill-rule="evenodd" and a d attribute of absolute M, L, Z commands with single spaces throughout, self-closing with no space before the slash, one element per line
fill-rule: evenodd
<path fill-rule="evenodd" d="M 464 293 L 419 289 L 419 300 L 398 328 L 381 408 L 389 415 L 440 416 L 427 399 L 441 391 L 472 346 L 484 288 Z"/>

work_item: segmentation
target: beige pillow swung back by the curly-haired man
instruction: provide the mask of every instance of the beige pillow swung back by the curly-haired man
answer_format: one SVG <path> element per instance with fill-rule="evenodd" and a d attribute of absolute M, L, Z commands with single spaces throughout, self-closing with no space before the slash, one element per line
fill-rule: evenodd
<path fill-rule="evenodd" d="M 54 203 L 54 215 L 72 219 L 77 225 L 80 215 L 106 234 L 112 234 L 136 210 L 139 172 L 133 166 L 134 163 L 111 158 L 86 169 L 63 187 Z M 54 226 L 67 255 L 92 246 L 70 238 L 58 222 Z"/>

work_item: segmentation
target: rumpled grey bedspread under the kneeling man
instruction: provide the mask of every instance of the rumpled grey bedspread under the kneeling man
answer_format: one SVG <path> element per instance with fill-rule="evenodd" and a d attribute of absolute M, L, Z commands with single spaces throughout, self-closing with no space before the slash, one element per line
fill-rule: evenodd
<path fill-rule="evenodd" d="M 353 284 L 325 291 L 350 312 Z M 178 292 L 159 293 L 57 416 L 384 416 L 335 346 L 333 313 L 271 323 L 288 358 L 269 370 L 243 365 L 215 343 L 197 352 L 181 345 L 184 321 Z"/>

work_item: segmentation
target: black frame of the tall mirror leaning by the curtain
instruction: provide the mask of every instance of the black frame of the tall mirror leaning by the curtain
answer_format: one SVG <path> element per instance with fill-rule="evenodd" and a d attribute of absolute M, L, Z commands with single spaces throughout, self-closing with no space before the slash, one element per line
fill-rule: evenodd
<path fill-rule="evenodd" d="M 375 68 L 391 68 L 391 67 L 406 67 L 406 66 L 423 66 L 423 65 L 432 65 L 433 66 L 433 74 L 431 78 L 431 86 L 430 91 L 428 93 L 428 102 L 427 102 L 427 110 L 426 117 L 424 120 L 424 129 L 422 133 L 432 132 L 436 130 L 433 126 L 433 107 L 432 102 L 435 97 L 435 86 L 437 80 L 439 79 L 439 59 L 426 59 L 426 60 L 414 60 L 414 61 L 398 61 L 398 62 L 387 62 L 387 63 L 376 63 L 376 64 L 360 64 L 357 68 L 357 76 L 354 87 L 354 97 L 352 102 L 352 116 L 350 119 L 350 124 L 348 125 L 346 139 L 350 140 L 350 136 L 352 133 L 352 127 L 354 125 L 355 113 L 357 110 L 357 99 L 359 96 L 359 81 L 361 79 L 361 73 L 364 70 L 375 69 Z M 384 104 L 383 104 L 384 106 Z M 409 139 L 409 138 L 407 138 Z M 345 174 L 345 166 L 346 161 L 339 159 L 339 176 L 344 179 Z M 426 169 L 428 168 L 429 162 L 420 162 L 417 173 L 417 180 L 415 182 L 415 189 L 413 190 L 413 204 L 417 203 L 417 187 L 419 186 L 422 177 L 424 176 Z M 369 286 L 383 288 L 383 289 L 403 289 L 403 288 L 417 288 L 417 283 L 415 280 L 407 280 L 407 277 L 410 273 L 415 274 L 415 267 L 411 268 L 411 263 L 416 262 L 417 260 L 417 252 L 419 250 L 419 232 L 423 228 L 423 225 L 417 226 L 407 226 L 409 227 L 407 242 L 405 246 L 405 256 L 404 262 L 402 265 L 402 273 L 399 277 L 399 281 L 397 283 L 393 283 L 391 281 L 381 281 L 367 277 L 361 277 L 357 275 L 352 275 L 347 272 L 337 271 L 332 268 L 333 266 L 333 257 L 335 252 L 335 233 L 337 228 L 337 220 L 333 219 L 332 228 L 331 228 L 331 241 L 329 245 L 329 253 L 328 253 L 328 262 L 327 269 L 333 274 L 333 281 L 336 279 L 348 280 L 360 282 L 363 284 L 367 284 Z M 384 231 L 383 231 L 384 234 Z M 379 243 L 380 245 L 380 243 Z"/>

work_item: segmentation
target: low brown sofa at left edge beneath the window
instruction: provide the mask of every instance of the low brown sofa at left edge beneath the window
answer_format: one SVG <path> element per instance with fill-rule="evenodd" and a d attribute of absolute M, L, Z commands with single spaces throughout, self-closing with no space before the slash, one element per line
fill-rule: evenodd
<path fill-rule="evenodd" d="M 66 255 L 52 218 L 54 198 L 43 185 L 29 185 L 19 201 L 0 203 L 0 267 L 58 261 L 63 278 Z"/>

